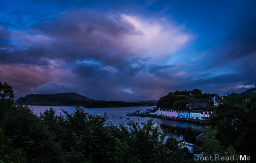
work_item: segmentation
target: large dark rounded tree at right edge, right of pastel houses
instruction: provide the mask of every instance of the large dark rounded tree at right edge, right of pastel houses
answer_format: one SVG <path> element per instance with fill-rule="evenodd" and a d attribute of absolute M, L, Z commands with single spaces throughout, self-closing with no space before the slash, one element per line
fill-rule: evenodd
<path fill-rule="evenodd" d="M 224 98 L 216 108 L 216 113 L 209 118 L 211 128 L 216 127 L 216 139 L 224 148 L 233 147 L 237 152 L 253 155 L 255 149 L 248 148 L 255 144 L 256 95 L 249 100 L 232 93 Z"/>

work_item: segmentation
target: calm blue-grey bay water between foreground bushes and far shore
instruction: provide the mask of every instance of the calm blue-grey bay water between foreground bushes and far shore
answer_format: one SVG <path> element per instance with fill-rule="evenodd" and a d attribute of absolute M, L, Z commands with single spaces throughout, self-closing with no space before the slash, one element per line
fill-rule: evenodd
<path fill-rule="evenodd" d="M 31 106 L 30 106 L 31 107 Z M 52 107 L 56 111 L 56 115 L 60 116 L 63 115 L 63 113 L 58 113 L 58 111 L 61 111 L 61 108 L 63 110 L 66 110 L 69 114 L 74 113 L 75 107 L 73 106 L 32 106 L 34 110 L 34 114 L 39 116 L 39 113 L 44 113 L 46 110 L 48 110 L 50 107 Z M 134 111 L 146 111 L 147 109 L 152 109 L 154 106 L 142 106 L 142 107 L 108 107 L 108 108 L 85 108 L 84 111 L 91 114 L 91 115 L 101 115 L 103 116 L 104 113 L 106 113 L 106 117 L 109 118 L 106 123 L 112 123 L 115 126 L 119 126 L 120 123 L 124 123 L 126 127 L 129 127 L 127 123 L 129 121 L 138 122 L 140 126 L 142 126 L 142 122 L 146 122 L 150 117 L 137 117 L 137 116 L 130 116 L 130 119 L 127 119 L 126 113 L 127 112 L 134 112 Z M 114 116 L 114 117 L 113 117 Z M 119 118 L 119 116 L 122 116 L 123 118 Z M 186 122 L 178 122 L 178 121 L 170 121 L 170 120 L 164 120 L 164 119 L 158 119 L 154 118 L 156 121 L 159 122 L 159 125 L 173 125 L 173 127 L 181 127 L 181 128 L 187 128 L 191 127 L 195 132 L 201 133 L 202 132 L 202 125 L 201 124 L 194 124 L 194 123 L 186 123 Z M 111 120 L 111 121 L 110 121 Z M 155 124 L 157 126 L 157 123 Z"/>

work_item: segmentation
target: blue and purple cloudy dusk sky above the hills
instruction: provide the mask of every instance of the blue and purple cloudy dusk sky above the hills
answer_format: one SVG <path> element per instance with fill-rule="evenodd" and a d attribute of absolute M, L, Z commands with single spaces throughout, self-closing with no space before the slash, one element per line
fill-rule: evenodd
<path fill-rule="evenodd" d="M 1 1 L 0 82 L 15 97 L 159 99 L 256 82 L 256 1 Z"/>

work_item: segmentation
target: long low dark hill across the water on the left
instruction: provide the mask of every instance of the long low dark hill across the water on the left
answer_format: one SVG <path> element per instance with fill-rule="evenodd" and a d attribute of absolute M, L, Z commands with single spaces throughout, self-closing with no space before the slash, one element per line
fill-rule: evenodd
<path fill-rule="evenodd" d="M 31 94 L 20 97 L 16 103 L 41 106 L 130 107 L 145 104 L 123 101 L 98 101 L 77 93 Z"/>

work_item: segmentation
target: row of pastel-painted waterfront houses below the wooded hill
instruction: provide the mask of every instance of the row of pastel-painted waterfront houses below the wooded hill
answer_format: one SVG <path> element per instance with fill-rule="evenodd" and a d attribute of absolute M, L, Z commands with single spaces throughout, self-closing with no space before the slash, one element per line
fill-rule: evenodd
<path fill-rule="evenodd" d="M 191 119 L 208 119 L 212 111 L 192 110 L 192 111 L 176 111 L 176 110 L 160 110 L 156 113 L 151 113 L 158 116 L 173 117 L 173 118 L 191 118 Z"/>

